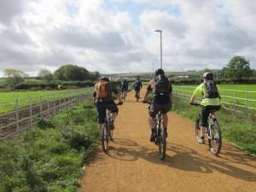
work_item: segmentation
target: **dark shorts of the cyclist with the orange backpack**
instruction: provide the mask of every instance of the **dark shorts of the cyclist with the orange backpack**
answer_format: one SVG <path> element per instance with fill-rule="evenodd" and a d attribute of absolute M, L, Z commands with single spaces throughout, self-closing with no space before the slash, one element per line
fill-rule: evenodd
<path fill-rule="evenodd" d="M 117 108 L 115 102 L 96 102 L 96 108 L 99 124 L 104 123 L 106 117 L 106 109 L 108 109 L 110 113 L 119 113 L 119 108 Z"/>

